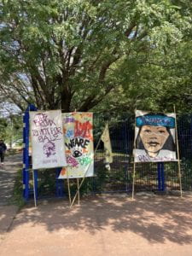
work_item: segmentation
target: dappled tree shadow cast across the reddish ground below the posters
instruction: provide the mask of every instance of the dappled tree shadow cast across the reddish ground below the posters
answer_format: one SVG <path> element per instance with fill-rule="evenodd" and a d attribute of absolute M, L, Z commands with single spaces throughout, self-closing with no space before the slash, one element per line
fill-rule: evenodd
<path fill-rule="evenodd" d="M 131 201 L 127 195 L 105 195 L 84 198 L 80 206 L 68 207 L 67 201 L 44 201 L 38 208 L 28 206 L 17 215 L 12 230 L 43 225 L 55 230 L 85 230 L 132 232 L 151 243 L 177 244 L 192 242 L 192 196 L 137 195 Z"/>

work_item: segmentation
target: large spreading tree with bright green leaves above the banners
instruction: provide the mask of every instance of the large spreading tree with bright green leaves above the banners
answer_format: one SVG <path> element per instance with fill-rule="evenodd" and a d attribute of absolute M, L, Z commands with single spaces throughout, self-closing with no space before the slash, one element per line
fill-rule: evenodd
<path fill-rule="evenodd" d="M 155 73 L 158 63 L 172 61 L 165 56 L 189 29 L 189 4 L 3 1 L 0 88 L 20 109 L 33 102 L 43 109 L 88 111 L 142 100 L 154 84 L 139 73 L 148 67 Z"/>

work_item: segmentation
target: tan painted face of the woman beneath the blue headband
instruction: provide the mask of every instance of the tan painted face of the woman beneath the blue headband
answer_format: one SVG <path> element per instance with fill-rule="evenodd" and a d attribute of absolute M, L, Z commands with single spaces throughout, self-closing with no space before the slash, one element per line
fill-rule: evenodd
<path fill-rule="evenodd" d="M 143 125 L 140 137 L 148 155 L 154 157 L 163 148 L 166 139 L 169 137 L 169 132 L 164 126 Z"/>

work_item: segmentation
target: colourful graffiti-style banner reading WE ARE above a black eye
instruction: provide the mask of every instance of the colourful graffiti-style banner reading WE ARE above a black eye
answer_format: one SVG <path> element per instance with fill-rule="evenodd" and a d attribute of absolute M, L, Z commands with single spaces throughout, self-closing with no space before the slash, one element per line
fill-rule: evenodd
<path fill-rule="evenodd" d="M 67 167 L 59 178 L 91 177 L 94 173 L 92 113 L 62 113 Z"/>

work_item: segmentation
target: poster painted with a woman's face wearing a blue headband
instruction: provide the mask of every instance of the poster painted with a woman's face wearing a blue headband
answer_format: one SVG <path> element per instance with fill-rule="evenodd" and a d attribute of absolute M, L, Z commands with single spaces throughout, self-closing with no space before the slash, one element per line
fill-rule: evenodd
<path fill-rule="evenodd" d="M 175 113 L 136 111 L 135 162 L 175 161 Z"/>

